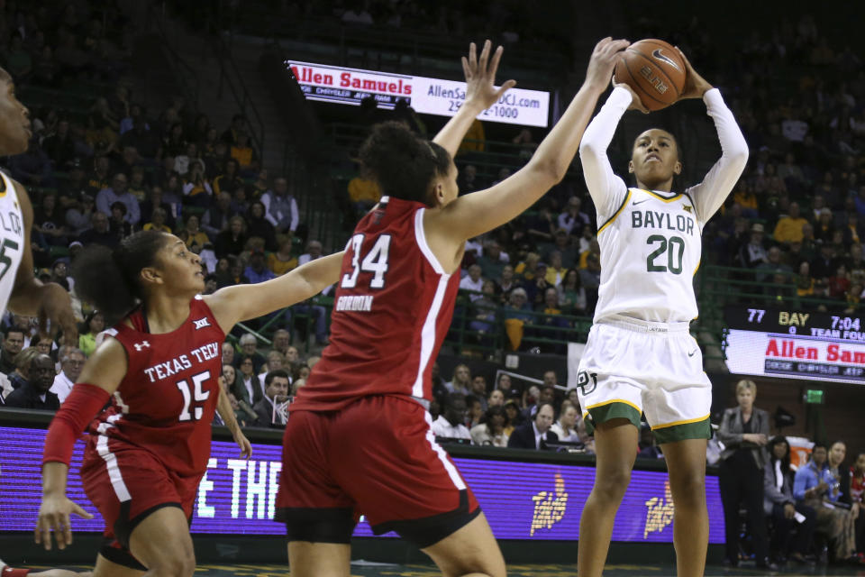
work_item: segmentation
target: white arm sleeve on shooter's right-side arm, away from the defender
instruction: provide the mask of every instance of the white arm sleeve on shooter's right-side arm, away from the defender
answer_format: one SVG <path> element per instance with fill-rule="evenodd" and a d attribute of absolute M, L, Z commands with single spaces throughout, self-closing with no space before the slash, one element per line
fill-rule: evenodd
<path fill-rule="evenodd" d="M 687 194 L 694 200 L 697 218 L 706 223 L 724 204 L 736 181 L 742 176 L 742 170 L 748 163 L 748 142 L 745 142 L 733 113 L 724 104 L 724 98 L 717 88 L 707 90 L 703 101 L 706 103 L 706 114 L 715 121 L 718 141 L 721 142 L 721 158 L 708 171 L 703 182 L 687 189 Z"/>

